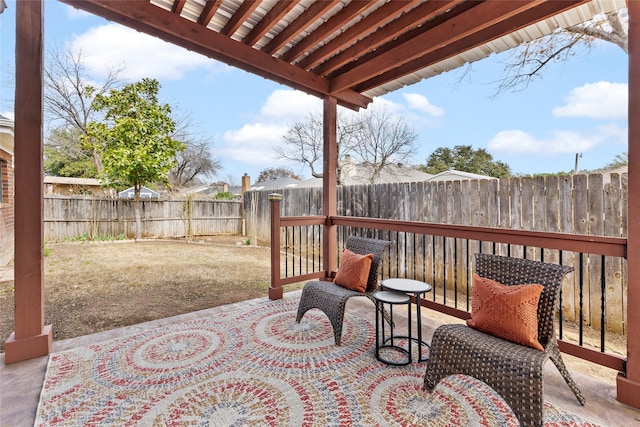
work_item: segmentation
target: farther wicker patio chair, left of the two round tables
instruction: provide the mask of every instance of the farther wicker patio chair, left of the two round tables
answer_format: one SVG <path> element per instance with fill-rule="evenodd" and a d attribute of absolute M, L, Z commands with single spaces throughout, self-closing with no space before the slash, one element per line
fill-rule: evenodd
<path fill-rule="evenodd" d="M 373 254 L 365 292 L 352 291 L 329 281 L 307 282 L 302 289 L 296 322 L 300 323 L 302 316 L 312 308 L 322 310 L 331 322 L 336 345 L 340 345 L 344 309 L 347 301 L 351 297 L 358 296 L 366 296 L 373 301 L 373 292 L 378 288 L 378 268 L 382 260 L 382 251 L 390 243 L 391 242 L 387 240 L 370 239 L 366 237 L 347 237 L 346 247 L 350 251 L 360 255 Z"/>

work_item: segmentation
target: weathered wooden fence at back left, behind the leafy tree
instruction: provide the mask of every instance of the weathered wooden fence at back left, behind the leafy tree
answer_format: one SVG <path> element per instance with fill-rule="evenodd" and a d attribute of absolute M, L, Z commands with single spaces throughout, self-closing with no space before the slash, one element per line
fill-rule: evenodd
<path fill-rule="evenodd" d="M 240 235 L 242 202 L 226 200 L 149 200 L 141 202 L 142 237 Z M 44 236 L 59 242 L 78 236 L 135 237 L 129 199 L 45 196 Z"/>

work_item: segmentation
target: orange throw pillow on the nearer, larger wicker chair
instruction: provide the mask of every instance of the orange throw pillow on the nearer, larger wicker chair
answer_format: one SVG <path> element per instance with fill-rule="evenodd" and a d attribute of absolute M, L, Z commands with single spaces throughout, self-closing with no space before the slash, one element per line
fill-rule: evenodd
<path fill-rule="evenodd" d="M 538 301 L 544 286 L 506 286 L 473 275 L 471 319 L 467 325 L 527 347 L 544 350 L 538 342 Z"/>

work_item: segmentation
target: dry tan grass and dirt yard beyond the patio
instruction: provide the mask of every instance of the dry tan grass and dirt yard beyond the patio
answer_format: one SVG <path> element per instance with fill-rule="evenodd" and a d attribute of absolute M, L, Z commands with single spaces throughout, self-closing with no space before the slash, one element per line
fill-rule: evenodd
<path fill-rule="evenodd" d="M 45 324 L 54 340 L 263 297 L 269 288 L 270 249 L 247 246 L 242 237 L 48 248 Z M 0 352 L 13 313 L 13 282 L 0 283 Z"/>

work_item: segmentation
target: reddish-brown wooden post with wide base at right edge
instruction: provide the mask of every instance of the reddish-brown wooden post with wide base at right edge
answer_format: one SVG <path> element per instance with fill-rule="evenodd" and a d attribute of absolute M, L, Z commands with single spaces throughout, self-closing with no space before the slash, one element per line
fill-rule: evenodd
<path fill-rule="evenodd" d="M 640 2 L 629 10 L 629 189 L 627 231 L 627 369 L 616 398 L 640 408 Z"/>

